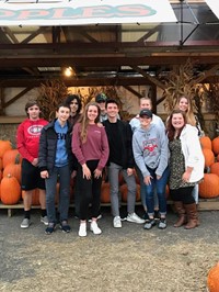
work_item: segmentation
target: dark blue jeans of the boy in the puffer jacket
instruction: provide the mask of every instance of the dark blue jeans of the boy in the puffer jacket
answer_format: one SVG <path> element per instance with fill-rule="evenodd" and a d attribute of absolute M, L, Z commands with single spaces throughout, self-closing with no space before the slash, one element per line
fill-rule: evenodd
<path fill-rule="evenodd" d="M 70 201 L 70 169 L 69 166 L 54 167 L 49 178 L 46 179 L 46 211 L 49 223 L 56 223 L 56 184 L 59 178 L 59 214 L 60 222 L 68 220 L 69 201 Z"/>

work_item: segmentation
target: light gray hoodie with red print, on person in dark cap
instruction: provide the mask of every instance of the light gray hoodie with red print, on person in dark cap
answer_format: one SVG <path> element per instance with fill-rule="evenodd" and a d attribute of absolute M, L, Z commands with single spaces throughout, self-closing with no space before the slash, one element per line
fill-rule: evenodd
<path fill-rule="evenodd" d="M 155 169 L 157 176 L 162 176 L 168 167 L 168 137 L 163 130 L 150 124 L 148 130 L 139 127 L 132 136 L 132 150 L 137 166 L 143 178 L 150 176 L 147 167 Z"/>

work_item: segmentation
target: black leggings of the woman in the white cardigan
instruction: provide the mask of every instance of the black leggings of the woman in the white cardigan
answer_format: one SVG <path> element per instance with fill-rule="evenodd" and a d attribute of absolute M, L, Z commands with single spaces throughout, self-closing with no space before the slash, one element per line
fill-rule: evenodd
<path fill-rule="evenodd" d="M 175 190 L 170 190 L 170 195 L 173 201 L 182 201 L 184 204 L 193 204 L 195 203 L 195 199 L 193 198 L 193 189 L 194 187 L 180 188 Z"/>

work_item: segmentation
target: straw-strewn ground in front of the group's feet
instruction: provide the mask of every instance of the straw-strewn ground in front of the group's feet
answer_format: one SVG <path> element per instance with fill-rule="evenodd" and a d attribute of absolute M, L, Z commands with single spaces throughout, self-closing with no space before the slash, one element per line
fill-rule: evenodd
<path fill-rule="evenodd" d="M 46 235 L 38 210 L 28 229 L 20 228 L 21 210 L 12 217 L 1 210 L 0 291 L 207 291 L 208 270 L 219 260 L 219 212 L 201 212 L 201 225 L 185 231 L 172 227 L 170 211 L 166 229 L 145 231 L 128 222 L 113 228 L 110 207 L 102 211 L 103 234 L 80 238 L 72 215 L 71 233 Z"/>

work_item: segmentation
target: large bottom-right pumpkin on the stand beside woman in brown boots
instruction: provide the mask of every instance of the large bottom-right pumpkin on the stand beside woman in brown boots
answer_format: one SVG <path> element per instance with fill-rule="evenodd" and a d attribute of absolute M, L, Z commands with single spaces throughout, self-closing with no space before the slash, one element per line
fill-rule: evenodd
<path fill-rule="evenodd" d="M 205 173 L 199 183 L 200 198 L 216 198 L 219 195 L 219 177 L 215 173 Z"/>

